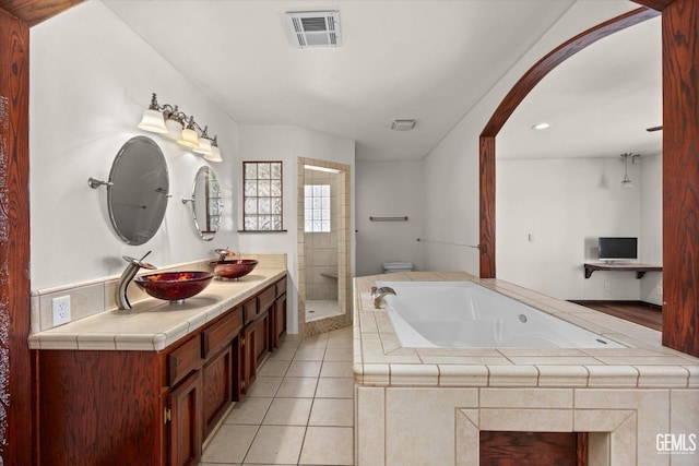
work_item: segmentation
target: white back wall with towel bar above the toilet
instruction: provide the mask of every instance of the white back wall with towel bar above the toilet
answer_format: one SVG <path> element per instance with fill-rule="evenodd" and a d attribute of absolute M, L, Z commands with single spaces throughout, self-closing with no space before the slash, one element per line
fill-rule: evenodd
<path fill-rule="evenodd" d="M 383 262 L 425 270 L 425 163 L 357 162 L 357 275 L 383 273 Z M 369 217 L 408 217 L 370 222 Z"/>

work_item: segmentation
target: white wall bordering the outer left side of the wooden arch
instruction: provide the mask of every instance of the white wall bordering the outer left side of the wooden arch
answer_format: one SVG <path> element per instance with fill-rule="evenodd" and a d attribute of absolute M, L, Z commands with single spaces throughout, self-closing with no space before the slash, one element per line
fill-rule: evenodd
<path fill-rule="evenodd" d="M 478 273 L 478 251 L 467 247 L 479 238 L 478 136 L 505 95 L 555 47 L 633 8 L 633 3 L 623 1 L 573 4 L 428 154 L 425 237 L 438 242 L 426 244 L 427 270 Z"/>

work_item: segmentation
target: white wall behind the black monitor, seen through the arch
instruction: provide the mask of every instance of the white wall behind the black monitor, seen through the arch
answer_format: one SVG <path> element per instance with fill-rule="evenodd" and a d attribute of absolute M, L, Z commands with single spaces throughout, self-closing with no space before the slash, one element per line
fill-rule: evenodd
<path fill-rule="evenodd" d="M 561 299 L 638 300 L 635 273 L 584 278 L 582 267 L 597 261 L 601 236 L 639 237 L 639 260 L 649 262 L 639 166 L 629 164 L 629 178 L 635 188 L 621 188 L 620 157 L 498 160 L 498 277 Z"/>

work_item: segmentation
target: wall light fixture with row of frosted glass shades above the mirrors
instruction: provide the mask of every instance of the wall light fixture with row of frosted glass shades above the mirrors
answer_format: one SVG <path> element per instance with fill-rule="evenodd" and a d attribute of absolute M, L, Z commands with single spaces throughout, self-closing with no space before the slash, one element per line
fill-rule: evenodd
<path fill-rule="evenodd" d="M 155 93 L 151 97 L 151 105 L 143 112 L 139 128 L 164 134 L 166 138 L 177 141 L 178 144 L 201 154 L 208 160 L 223 160 L 216 144 L 216 136 L 211 138 L 206 132 L 209 127 L 204 127 L 202 130 L 194 121 L 194 117 L 180 111 L 177 105 L 159 105 Z"/>

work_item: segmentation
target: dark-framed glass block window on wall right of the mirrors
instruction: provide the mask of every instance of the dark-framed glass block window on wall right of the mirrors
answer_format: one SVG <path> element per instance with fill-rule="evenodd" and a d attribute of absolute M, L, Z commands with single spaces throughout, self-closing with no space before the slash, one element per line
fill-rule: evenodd
<path fill-rule="evenodd" d="M 242 163 L 242 229 L 282 231 L 282 163 Z"/>

